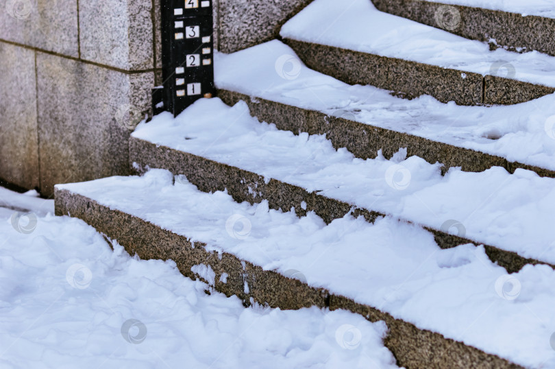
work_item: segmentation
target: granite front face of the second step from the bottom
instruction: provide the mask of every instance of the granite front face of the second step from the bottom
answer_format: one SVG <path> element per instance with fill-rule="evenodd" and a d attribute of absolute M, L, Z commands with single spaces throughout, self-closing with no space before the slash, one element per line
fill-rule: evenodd
<path fill-rule="evenodd" d="M 288 211 L 294 207 L 299 216 L 306 215 L 307 211 L 314 211 L 327 223 L 345 216 L 351 209 L 355 217 L 362 215 L 368 222 L 374 222 L 376 217 L 383 216 L 382 213 L 371 209 L 355 209 L 345 202 L 317 193 L 309 193 L 301 187 L 279 180 L 272 179 L 265 183 L 264 178 L 258 174 L 186 152 L 171 150 L 168 147 L 157 147 L 134 137 L 130 139 L 130 160 L 131 163 L 139 165 L 139 168 L 135 169 L 138 170 L 138 174 L 141 174 L 146 167 L 167 169 L 173 174 L 184 174 L 188 182 L 201 191 L 214 192 L 227 189 L 227 193 L 237 202 L 246 201 L 254 204 L 268 200 L 271 209 Z M 301 202 L 305 202 L 306 209 L 301 208 Z M 469 239 L 448 235 L 439 230 L 431 231 L 441 248 L 454 248 L 465 243 L 477 244 Z M 493 246 L 486 246 L 486 253 L 491 261 L 497 262 L 508 272 L 517 272 L 528 263 L 540 263 Z"/>

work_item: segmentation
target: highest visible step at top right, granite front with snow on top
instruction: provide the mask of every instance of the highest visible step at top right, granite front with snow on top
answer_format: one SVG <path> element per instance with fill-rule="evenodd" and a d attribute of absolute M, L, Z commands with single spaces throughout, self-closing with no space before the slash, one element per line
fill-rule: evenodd
<path fill-rule="evenodd" d="M 372 0 L 376 8 L 473 40 L 555 56 L 552 0 Z"/>

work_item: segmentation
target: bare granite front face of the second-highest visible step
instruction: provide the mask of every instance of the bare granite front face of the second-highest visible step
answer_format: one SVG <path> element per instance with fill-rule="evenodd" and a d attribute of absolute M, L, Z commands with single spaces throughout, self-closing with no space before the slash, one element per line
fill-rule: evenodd
<path fill-rule="evenodd" d="M 348 84 L 371 84 L 406 97 L 430 95 L 459 105 L 511 105 L 549 95 L 555 88 L 477 73 L 445 69 L 397 58 L 285 39 L 315 71 Z"/>

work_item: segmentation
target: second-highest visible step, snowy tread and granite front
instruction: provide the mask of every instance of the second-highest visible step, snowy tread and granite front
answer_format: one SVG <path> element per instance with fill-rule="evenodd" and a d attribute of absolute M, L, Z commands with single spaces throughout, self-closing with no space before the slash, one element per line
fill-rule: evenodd
<path fill-rule="evenodd" d="M 461 105 L 517 104 L 555 91 L 555 58 L 514 53 L 380 12 L 370 0 L 315 0 L 280 35 L 308 67 L 349 84 Z"/>

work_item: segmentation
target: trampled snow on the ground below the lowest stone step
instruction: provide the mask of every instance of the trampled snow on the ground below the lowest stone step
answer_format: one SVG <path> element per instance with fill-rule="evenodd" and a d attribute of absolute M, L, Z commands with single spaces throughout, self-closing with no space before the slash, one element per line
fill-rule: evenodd
<path fill-rule="evenodd" d="M 3 206 L 29 200 L 0 193 Z M 173 261 L 138 260 L 116 242 L 112 251 L 79 219 L 37 215 L 18 227 L 14 214 L 0 208 L 2 369 L 396 367 L 382 322 L 245 309 L 208 296 Z"/>

